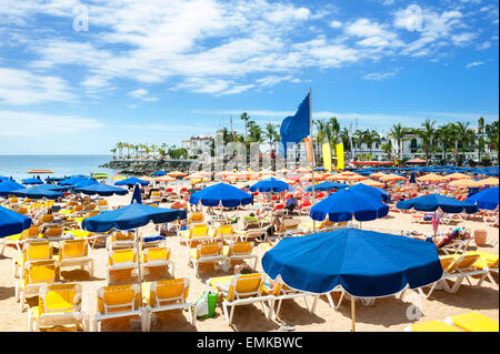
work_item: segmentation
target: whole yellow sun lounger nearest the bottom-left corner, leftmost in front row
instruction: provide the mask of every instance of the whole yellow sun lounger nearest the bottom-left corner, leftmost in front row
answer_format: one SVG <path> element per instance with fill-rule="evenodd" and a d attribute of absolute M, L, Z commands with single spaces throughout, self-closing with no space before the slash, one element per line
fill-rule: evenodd
<path fill-rule="evenodd" d="M 81 285 L 78 283 L 43 284 L 38 306 L 28 311 L 28 331 L 38 332 L 61 325 L 76 325 L 89 331 L 89 316 L 81 311 Z"/>

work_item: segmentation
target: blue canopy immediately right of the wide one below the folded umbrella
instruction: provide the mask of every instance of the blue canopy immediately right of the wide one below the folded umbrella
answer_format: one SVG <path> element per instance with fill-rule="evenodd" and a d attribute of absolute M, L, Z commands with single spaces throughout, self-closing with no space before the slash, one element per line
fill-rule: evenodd
<path fill-rule="evenodd" d="M 189 198 L 191 204 L 201 204 L 204 206 L 217 206 L 222 204 L 226 208 L 233 208 L 239 205 L 250 204 L 252 196 L 230 184 L 218 183 L 207 186 L 198 191 Z"/>

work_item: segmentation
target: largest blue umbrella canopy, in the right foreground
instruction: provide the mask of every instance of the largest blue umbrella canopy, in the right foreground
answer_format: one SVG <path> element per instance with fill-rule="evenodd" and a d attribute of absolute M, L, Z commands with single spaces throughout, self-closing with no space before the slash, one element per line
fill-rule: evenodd
<path fill-rule="evenodd" d="M 442 276 L 433 243 L 350 227 L 286 237 L 266 252 L 262 269 L 292 289 L 321 294 L 340 285 L 359 297 L 392 295 Z"/>

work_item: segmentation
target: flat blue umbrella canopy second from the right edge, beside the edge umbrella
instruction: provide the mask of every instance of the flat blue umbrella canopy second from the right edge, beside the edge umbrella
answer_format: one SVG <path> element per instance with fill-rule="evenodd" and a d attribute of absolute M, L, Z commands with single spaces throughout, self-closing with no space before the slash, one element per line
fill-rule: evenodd
<path fill-rule="evenodd" d="M 433 212 L 441 209 L 444 213 L 461 213 L 466 212 L 468 214 L 477 213 L 478 206 L 473 203 L 462 202 L 454 198 L 441 195 L 441 194 L 428 194 L 407 201 L 400 201 L 396 204 L 398 209 L 409 210 L 413 208 L 418 211 Z"/>

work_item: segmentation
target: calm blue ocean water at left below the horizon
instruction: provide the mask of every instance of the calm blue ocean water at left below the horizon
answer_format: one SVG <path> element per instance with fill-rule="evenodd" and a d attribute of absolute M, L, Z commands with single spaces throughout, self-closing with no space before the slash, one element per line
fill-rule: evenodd
<path fill-rule="evenodd" d="M 99 165 L 112 160 L 112 155 L 0 155 L 0 175 L 12 176 L 17 182 L 32 178 L 30 170 L 51 170 L 53 173 L 40 174 L 44 181 L 48 176 L 83 174 L 90 172 L 108 173 L 108 181 L 116 170 L 100 169 Z"/>

